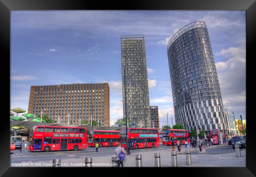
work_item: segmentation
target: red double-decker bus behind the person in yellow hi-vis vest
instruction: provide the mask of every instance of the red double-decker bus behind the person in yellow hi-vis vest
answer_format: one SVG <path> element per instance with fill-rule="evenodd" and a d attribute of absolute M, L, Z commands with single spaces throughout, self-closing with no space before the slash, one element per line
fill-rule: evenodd
<path fill-rule="evenodd" d="M 95 146 L 95 142 L 98 142 L 100 147 L 117 146 L 120 142 L 120 131 L 91 130 L 88 146 Z"/>

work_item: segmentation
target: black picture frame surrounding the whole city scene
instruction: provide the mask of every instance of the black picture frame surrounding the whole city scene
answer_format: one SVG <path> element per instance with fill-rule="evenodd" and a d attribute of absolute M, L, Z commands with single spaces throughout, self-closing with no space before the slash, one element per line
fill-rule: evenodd
<path fill-rule="evenodd" d="M 10 11 L 14 10 L 246 10 L 246 83 L 247 83 L 247 92 L 253 93 L 253 83 L 255 74 L 252 73 L 254 68 L 253 64 L 250 65 L 255 59 L 254 46 L 256 39 L 256 2 L 255 0 L 140 0 L 140 1 L 82 1 L 82 0 L 0 0 L 0 47 L 2 54 L 2 61 L 8 61 L 10 59 Z M 254 55 L 253 55 L 254 54 Z M 5 57 L 3 57 L 5 56 Z M 251 56 L 251 57 L 249 57 Z M 8 63 L 8 62 L 6 62 Z M 2 65 L 2 69 L 8 70 L 6 64 Z M 10 66 L 10 62 L 9 62 Z M 2 72 L 5 73 L 5 72 Z M 6 74 L 5 74 L 6 75 Z M 7 77 L 6 77 L 7 78 Z M 249 78 L 249 79 L 247 79 Z M 3 77 L 2 77 L 3 80 Z M 7 83 L 7 81 L 6 81 Z M 10 84 L 10 82 L 9 82 Z M 3 84 L 3 88 L 10 91 L 11 88 L 6 87 L 6 84 Z M 4 93 L 4 92 L 2 92 Z M 4 94 L 3 94 L 4 95 Z M 5 94 L 7 95 L 7 94 Z M 53 168 L 10 168 L 9 161 L 9 121 L 7 120 L 7 108 L 9 98 L 6 96 L 6 100 L 2 99 L 3 105 L 5 105 L 5 116 L 1 120 L 1 144 L 0 144 L 0 175 L 3 176 L 52 176 Z M 156 175 L 171 175 L 178 173 L 178 175 L 198 175 L 198 176 L 254 176 L 256 175 L 255 168 L 255 140 L 253 133 L 253 120 L 255 119 L 252 115 L 252 109 L 250 109 L 250 100 L 252 96 L 249 96 L 246 100 L 247 103 L 247 153 L 246 153 L 246 168 L 167 168 L 167 169 L 157 169 L 152 170 L 146 168 L 143 171 L 156 171 Z M 56 168 L 54 168 L 56 169 Z M 73 168 L 72 168 L 73 169 Z M 58 174 L 60 171 L 68 172 L 73 171 L 70 168 L 58 168 Z M 89 175 L 88 170 L 84 168 L 79 168 L 82 173 L 78 173 L 78 168 L 73 175 Z M 97 169 L 97 168 L 96 168 Z M 109 168 L 108 168 L 109 169 Z M 129 170 L 130 168 L 128 168 Z M 163 170 L 162 170 L 163 169 Z M 99 175 L 99 171 L 93 169 L 94 173 L 91 175 Z M 110 169 L 112 170 L 112 169 Z M 116 169 L 117 170 L 117 169 Z M 120 168 L 118 169 L 120 170 Z M 104 170 L 105 171 L 105 170 Z M 123 175 L 122 173 L 112 170 L 112 175 Z M 133 171 L 133 170 L 132 170 Z M 130 171 L 131 175 L 135 175 L 134 172 Z M 137 169 L 136 169 L 137 171 Z M 120 171 L 121 172 L 121 171 Z M 103 173 L 104 174 L 104 173 Z M 60 175 L 60 174 L 59 174 Z"/>

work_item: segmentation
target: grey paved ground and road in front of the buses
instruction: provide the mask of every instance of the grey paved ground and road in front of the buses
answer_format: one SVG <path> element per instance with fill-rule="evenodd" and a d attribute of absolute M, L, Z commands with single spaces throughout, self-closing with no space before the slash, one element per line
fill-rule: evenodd
<path fill-rule="evenodd" d="M 230 149 L 231 148 L 231 149 Z M 88 147 L 86 150 L 80 151 L 52 151 L 52 152 L 30 152 L 28 149 L 23 149 L 22 153 L 15 150 L 13 155 L 10 155 L 10 166 L 52 166 L 52 159 L 61 159 L 62 166 L 84 166 L 85 157 L 93 157 L 94 166 L 108 166 L 111 163 L 111 156 L 115 147 L 102 147 L 95 152 L 95 148 Z M 245 149 L 241 150 L 241 158 L 236 157 L 235 150 L 228 145 L 211 146 L 204 148 L 199 154 L 195 148 L 188 148 L 191 152 L 192 165 L 186 165 L 185 148 L 178 153 L 178 166 L 186 167 L 245 167 Z M 175 151 L 177 149 L 175 148 Z M 155 148 L 132 149 L 131 155 L 126 156 L 124 166 L 135 166 L 135 154 L 141 154 L 143 166 L 154 166 L 154 153 L 161 154 L 161 166 L 171 166 L 171 146 L 160 146 Z M 37 163 L 37 165 L 36 165 Z"/>

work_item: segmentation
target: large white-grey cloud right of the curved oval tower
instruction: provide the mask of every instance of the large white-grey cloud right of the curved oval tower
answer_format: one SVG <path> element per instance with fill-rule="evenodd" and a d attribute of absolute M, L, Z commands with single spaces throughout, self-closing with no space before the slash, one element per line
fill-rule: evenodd
<path fill-rule="evenodd" d="M 228 111 L 234 111 L 236 118 L 240 114 L 246 118 L 245 47 L 230 47 L 215 54 L 228 58 L 216 63 L 223 105 Z"/>

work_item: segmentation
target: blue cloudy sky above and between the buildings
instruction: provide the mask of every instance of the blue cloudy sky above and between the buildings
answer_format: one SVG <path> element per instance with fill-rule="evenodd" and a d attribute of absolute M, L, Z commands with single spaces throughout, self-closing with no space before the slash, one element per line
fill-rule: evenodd
<path fill-rule="evenodd" d="M 11 105 L 28 109 L 31 85 L 109 83 L 112 123 L 122 118 L 121 35 L 145 35 L 150 105 L 174 118 L 166 45 L 206 22 L 224 107 L 246 119 L 245 11 L 11 11 Z M 173 119 L 173 123 L 175 123 Z"/>

